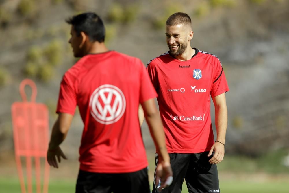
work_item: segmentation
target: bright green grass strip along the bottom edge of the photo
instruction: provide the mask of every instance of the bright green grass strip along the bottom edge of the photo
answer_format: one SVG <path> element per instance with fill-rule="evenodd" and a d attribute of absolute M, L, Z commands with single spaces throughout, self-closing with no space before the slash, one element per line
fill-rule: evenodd
<path fill-rule="evenodd" d="M 253 182 L 250 179 L 243 181 L 231 180 L 221 181 L 222 193 L 288 193 L 288 179 L 284 181 L 262 181 Z M 0 192 L 20 193 L 20 185 L 18 179 L 0 179 Z M 75 182 L 72 181 L 50 181 L 49 193 L 71 193 L 75 191 Z M 187 193 L 186 185 L 183 185 L 183 193 Z"/>

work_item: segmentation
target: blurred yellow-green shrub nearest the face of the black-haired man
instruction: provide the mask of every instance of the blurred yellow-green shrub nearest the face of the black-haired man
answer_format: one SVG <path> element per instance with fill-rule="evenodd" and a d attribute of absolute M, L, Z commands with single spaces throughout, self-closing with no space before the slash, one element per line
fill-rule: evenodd
<path fill-rule="evenodd" d="M 59 65 L 62 60 L 62 42 L 59 40 L 51 41 L 44 48 L 43 55 L 52 66 Z"/>

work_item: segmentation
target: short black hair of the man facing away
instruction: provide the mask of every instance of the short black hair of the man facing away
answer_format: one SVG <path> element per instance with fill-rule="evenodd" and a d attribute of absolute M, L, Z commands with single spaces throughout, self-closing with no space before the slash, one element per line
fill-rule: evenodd
<path fill-rule="evenodd" d="M 97 14 L 93 12 L 82 13 L 67 19 L 66 22 L 73 25 L 77 36 L 80 35 L 80 32 L 84 32 L 90 41 L 104 42 L 105 28 L 103 21 Z"/>

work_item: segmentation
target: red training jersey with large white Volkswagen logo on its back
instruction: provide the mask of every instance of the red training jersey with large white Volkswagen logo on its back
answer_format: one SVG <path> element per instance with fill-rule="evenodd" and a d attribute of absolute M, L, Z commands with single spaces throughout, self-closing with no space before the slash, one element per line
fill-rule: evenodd
<path fill-rule="evenodd" d="M 88 54 L 63 76 L 57 113 L 84 122 L 80 169 L 126 173 L 145 168 L 138 105 L 157 96 L 140 59 L 115 51 Z"/>

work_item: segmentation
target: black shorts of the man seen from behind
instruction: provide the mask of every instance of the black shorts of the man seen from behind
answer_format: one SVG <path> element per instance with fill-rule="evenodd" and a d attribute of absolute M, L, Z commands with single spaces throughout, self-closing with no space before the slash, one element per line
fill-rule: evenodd
<path fill-rule="evenodd" d="M 131 173 L 104 174 L 79 170 L 76 193 L 150 193 L 147 168 Z"/>

